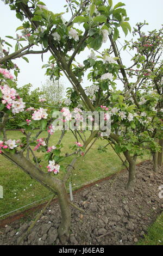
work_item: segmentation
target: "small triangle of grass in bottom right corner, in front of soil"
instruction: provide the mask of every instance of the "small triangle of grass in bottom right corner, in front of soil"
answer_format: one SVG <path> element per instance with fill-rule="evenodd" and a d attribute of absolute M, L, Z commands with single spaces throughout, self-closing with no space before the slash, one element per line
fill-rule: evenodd
<path fill-rule="evenodd" d="M 148 228 L 148 234 L 137 245 L 163 245 L 163 212 Z"/>

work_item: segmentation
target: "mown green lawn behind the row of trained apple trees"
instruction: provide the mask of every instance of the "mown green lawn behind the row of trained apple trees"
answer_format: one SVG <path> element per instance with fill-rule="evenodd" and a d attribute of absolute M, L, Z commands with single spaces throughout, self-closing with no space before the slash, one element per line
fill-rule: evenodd
<path fill-rule="evenodd" d="M 87 135 L 89 135 L 89 132 L 87 133 Z M 18 139 L 23 137 L 20 131 L 8 131 L 7 136 L 11 139 Z M 40 137 L 43 138 L 46 136 L 47 132 L 42 132 Z M 51 136 L 50 145 L 55 145 L 58 142 L 59 137 L 60 131 L 56 131 Z M 76 142 L 76 139 L 70 131 L 67 131 L 64 139 L 62 140 L 62 144 L 64 144 L 64 148 L 62 149 L 63 155 L 66 152 L 70 153 L 69 146 L 73 145 L 74 142 Z M 73 190 L 83 186 L 83 184 L 91 183 L 95 180 L 104 178 L 124 168 L 124 166 L 122 166 L 121 160 L 118 158 L 118 156 L 111 147 L 108 148 L 106 153 L 98 153 L 97 148 L 99 147 L 99 145 L 105 144 L 106 142 L 98 139 L 96 143 L 93 144 L 89 153 L 87 153 L 85 157 L 79 157 L 76 166 L 72 172 L 72 175 L 70 176 Z M 42 157 L 42 170 L 45 170 L 45 172 L 47 172 L 47 162 L 43 160 L 44 154 L 36 153 L 36 155 Z M 71 162 L 72 159 L 73 156 L 66 157 L 62 163 L 67 165 Z M 145 157 L 145 159 L 149 159 L 149 156 Z M 142 161 L 142 159 L 137 160 L 137 162 L 140 161 Z M 58 178 L 61 178 L 61 176 L 62 173 L 60 172 L 58 174 Z M 51 191 L 43 187 L 39 182 L 31 179 L 26 173 L 24 173 L 21 169 L 17 168 L 16 165 L 12 164 L 1 155 L 0 185 L 3 186 L 4 191 L 4 198 L 0 199 L 0 216 L 52 195 Z M 45 200 L 42 200 L 35 204 L 43 203 Z M 20 209 L 18 211 L 14 211 L 10 215 L 28 209 L 35 204 L 29 205 L 26 208 Z M 1 219 L 8 216 L 9 215 L 2 216 Z"/>

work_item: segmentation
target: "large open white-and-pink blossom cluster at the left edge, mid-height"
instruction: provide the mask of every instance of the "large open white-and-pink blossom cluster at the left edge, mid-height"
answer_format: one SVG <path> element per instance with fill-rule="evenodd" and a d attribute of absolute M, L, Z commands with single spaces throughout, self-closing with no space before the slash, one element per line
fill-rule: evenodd
<path fill-rule="evenodd" d="M 12 113 L 17 114 L 24 111 L 25 103 L 14 88 L 10 88 L 7 84 L 0 86 L 2 92 L 2 104 L 7 104 L 8 109 L 12 109 Z"/>

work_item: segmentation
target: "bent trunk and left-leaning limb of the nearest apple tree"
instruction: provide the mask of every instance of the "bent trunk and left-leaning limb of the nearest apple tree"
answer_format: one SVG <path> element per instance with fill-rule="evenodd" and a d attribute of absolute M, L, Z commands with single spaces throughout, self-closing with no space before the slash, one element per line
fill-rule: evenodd
<path fill-rule="evenodd" d="M 68 202 L 68 195 L 66 192 L 65 182 L 52 176 L 50 173 L 42 172 L 32 162 L 30 162 L 21 153 L 11 154 L 2 153 L 4 157 L 15 163 L 19 168 L 28 173 L 32 178 L 39 181 L 42 185 L 45 185 L 51 191 L 57 192 L 58 200 L 61 209 L 61 224 L 58 229 L 58 234 L 61 243 L 65 243 L 69 236 L 70 224 L 71 224 L 71 211 L 70 204 Z"/>

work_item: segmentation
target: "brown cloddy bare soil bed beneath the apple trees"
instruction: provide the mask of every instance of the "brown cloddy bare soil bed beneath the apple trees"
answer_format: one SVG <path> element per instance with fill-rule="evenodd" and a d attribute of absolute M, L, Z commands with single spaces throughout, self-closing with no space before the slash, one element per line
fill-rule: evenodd
<path fill-rule="evenodd" d="M 73 195 L 72 225 L 67 245 L 134 245 L 146 233 L 163 209 L 159 186 L 162 170 L 152 170 L 151 162 L 137 166 L 135 193 L 127 192 L 128 172 L 84 188 Z M 0 245 L 17 245 L 36 216 L 18 220 L 0 229 Z M 58 203 L 49 206 L 22 245 L 60 245 Z"/>

